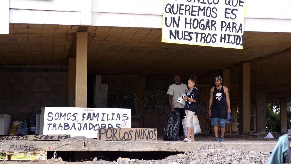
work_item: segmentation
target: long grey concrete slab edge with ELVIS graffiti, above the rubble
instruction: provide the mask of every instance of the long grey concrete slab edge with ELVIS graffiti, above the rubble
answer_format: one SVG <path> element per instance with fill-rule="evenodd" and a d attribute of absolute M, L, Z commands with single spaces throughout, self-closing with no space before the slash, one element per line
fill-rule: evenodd
<path fill-rule="evenodd" d="M 92 138 L 73 137 L 62 141 L 11 141 L 0 142 L 2 152 L 27 151 L 196 151 L 205 149 L 242 149 L 272 152 L 276 141 L 229 142 L 166 142 L 166 141 L 100 141 Z"/>

